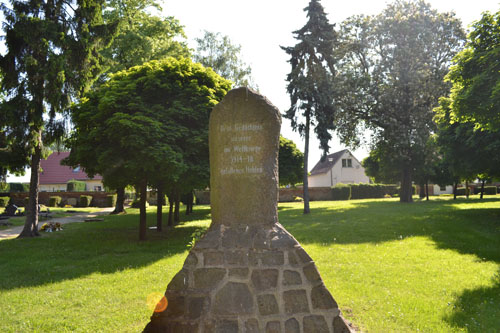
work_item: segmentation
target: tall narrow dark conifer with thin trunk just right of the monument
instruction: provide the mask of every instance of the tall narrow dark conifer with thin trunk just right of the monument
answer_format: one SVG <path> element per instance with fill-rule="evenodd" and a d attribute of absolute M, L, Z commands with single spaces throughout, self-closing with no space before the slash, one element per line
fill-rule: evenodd
<path fill-rule="evenodd" d="M 328 132 L 335 129 L 334 91 L 337 59 L 334 50 L 337 35 L 319 0 L 311 0 L 304 8 L 309 18 L 306 25 L 294 31 L 299 42 L 293 47 L 282 47 L 290 55 L 292 70 L 287 76 L 287 92 L 290 95 L 290 109 L 285 117 L 291 120 L 292 128 L 304 137 L 304 214 L 309 209 L 309 189 L 307 168 L 309 158 L 309 131 L 311 126 L 320 141 L 324 153 L 328 152 L 328 142 L 332 138 Z"/>

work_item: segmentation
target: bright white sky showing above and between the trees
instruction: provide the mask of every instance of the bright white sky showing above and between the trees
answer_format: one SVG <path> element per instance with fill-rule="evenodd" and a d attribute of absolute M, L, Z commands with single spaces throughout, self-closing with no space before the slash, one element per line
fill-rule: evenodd
<path fill-rule="evenodd" d="M 286 75 L 290 71 L 288 56 L 281 46 L 293 46 L 292 31 L 300 29 L 306 22 L 304 7 L 309 0 L 163 0 L 163 14 L 174 16 L 185 27 L 191 47 L 194 38 L 201 37 L 203 30 L 221 32 L 231 38 L 234 44 L 242 47 L 242 59 L 252 68 L 252 76 L 265 95 L 281 112 L 290 106 L 286 93 Z M 330 23 L 340 23 L 349 16 L 357 14 L 380 13 L 387 3 L 383 0 L 322 0 Z M 500 10 L 498 0 L 431 0 L 434 9 L 441 12 L 454 11 L 464 26 L 478 20 L 484 11 Z M 281 133 L 295 141 L 304 150 L 302 138 L 292 131 L 288 120 L 283 119 Z M 319 142 L 311 132 L 309 169 L 321 157 Z M 344 149 L 338 140 L 330 143 L 330 152 Z M 368 155 L 368 147 L 353 152 L 362 160 Z M 23 178 L 10 178 L 9 181 L 29 181 Z"/>

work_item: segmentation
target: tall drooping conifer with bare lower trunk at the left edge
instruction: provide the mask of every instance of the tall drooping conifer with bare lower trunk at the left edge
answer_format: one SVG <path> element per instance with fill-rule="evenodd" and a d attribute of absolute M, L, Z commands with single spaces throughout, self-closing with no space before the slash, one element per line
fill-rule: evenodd
<path fill-rule="evenodd" d="M 75 3 L 11 0 L 1 5 L 7 53 L 0 58 L 2 111 L 22 133 L 30 156 L 28 215 L 19 237 L 38 235 L 38 171 L 43 145 L 64 132 L 56 114 L 85 91 L 100 73 L 98 50 L 114 27 L 102 24 L 103 0 Z"/>

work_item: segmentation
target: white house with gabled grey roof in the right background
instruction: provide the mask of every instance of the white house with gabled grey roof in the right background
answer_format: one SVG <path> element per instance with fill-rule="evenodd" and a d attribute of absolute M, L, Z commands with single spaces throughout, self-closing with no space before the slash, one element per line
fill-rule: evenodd
<path fill-rule="evenodd" d="M 344 149 L 326 156 L 311 170 L 309 187 L 330 187 L 338 183 L 369 183 L 370 178 L 356 157 Z"/>

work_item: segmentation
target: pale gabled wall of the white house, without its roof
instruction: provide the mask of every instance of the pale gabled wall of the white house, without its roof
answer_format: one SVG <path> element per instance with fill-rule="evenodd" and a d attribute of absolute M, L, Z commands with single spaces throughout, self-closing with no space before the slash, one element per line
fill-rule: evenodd
<path fill-rule="evenodd" d="M 342 159 L 352 159 L 351 168 L 342 167 Z M 370 178 L 365 174 L 365 169 L 361 163 L 348 151 L 335 163 L 333 168 L 324 174 L 318 174 L 308 177 L 309 187 L 331 187 L 338 183 L 343 184 L 359 184 L 369 183 Z"/>

